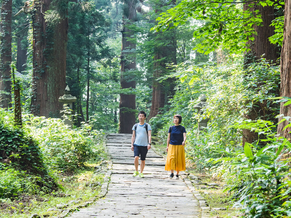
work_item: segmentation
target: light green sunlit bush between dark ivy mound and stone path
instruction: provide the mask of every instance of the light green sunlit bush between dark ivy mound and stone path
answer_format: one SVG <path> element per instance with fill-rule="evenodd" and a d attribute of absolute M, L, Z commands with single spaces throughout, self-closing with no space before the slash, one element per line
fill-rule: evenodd
<path fill-rule="evenodd" d="M 71 130 L 65 127 L 61 119 L 29 115 L 23 120 L 39 141 L 49 169 L 74 171 L 100 152 L 94 148 L 93 141 L 100 132 L 91 131 L 88 124 Z"/>

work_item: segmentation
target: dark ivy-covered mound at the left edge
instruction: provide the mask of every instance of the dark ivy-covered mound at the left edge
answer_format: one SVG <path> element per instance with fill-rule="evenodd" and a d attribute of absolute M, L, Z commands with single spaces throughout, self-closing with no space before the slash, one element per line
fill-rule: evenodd
<path fill-rule="evenodd" d="M 0 174 L 3 175 L 0 197 L 15 197 L 23 191 L 55 189 L 57 185 L 47 171 L 38 141 L 13 123 L 13 116 L 0 109 Z M 10 181 L 13 183 L 8 185 Z"/>

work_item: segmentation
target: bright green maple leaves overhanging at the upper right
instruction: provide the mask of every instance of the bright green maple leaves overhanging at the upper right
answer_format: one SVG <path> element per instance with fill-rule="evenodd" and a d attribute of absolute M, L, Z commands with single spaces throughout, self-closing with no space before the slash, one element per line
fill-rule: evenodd
<path fill-rule="evenodd" d="M 260 1 L 261 6 L 267 8 L 274 6 L 281 8 L 283 1 L 276 3 L 272 1 Z M 255 7 L 250 4 L 250 7 Z M 264 8 L 264 9 L 265 9 Z M 264 10 L 262 9 L 262 10 Z M 165 31 L 168 28 L 176 28 L 184 25 L 187 21 L 196 20 L 200 23 L 200 27 L 194 31 L 194 38 L 203 40 L 194 48 L 200 53 L 209 54 L 219 47 L 229 49 L 231 53 L 242 53 L 249 51 L 246 42 L 254 40 L 256 35 L 253 26 L 262 25 L 260 11 L 255 8 L 253 12 L 250 9 L 243 10 L 243 3 L 240 1 L 232 2 L 216 2 L 216 1 L 181 1 L 177 6 L 161 13 L 157 18 L 159 22 L 155 31 Z M 279 20 L 278 20 L 279 21 Z M 281 25 L 273 23 L 277 32 L 281 32 Z M 280 35 L 280 34 L 278 34 Z M 273 42 L 281 40 L 274 37 Z"/>

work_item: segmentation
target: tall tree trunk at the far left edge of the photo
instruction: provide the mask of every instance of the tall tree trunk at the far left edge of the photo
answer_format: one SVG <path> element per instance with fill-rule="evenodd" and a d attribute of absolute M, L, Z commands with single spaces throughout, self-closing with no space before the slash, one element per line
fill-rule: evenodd
<path fill-rule="evenodd" d="M 1 7 L 0 22 L 0 107 L 11 108 L 11 18 L 12 0 L 4 0 Z"/>

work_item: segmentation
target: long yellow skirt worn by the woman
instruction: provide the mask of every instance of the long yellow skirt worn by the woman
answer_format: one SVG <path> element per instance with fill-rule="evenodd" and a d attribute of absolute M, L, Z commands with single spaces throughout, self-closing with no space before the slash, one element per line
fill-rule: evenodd
<path fill-rule="evenodd" d="M 169 144 L 165 170 L 171 171 L 171 169 L 175 171 L 186 170 L 185 149 L 183 145 Z"/>

